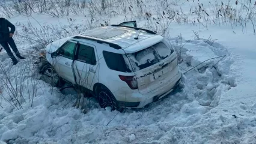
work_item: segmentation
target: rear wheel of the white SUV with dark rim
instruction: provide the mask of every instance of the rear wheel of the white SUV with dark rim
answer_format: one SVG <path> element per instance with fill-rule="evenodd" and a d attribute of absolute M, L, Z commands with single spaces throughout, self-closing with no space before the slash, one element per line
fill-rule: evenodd
<path fill-rule="evenodd" d="M 106 107 L 111 107 L 112 110 L 118 110 L 122 111 L 123 109 L 118 106 L 117 100 L 115 99 L 114 95 L 112 94 L 111 91 L 109 91 L 106 86 L 99 85 L 96 88 L 96 96 L 97 100 L 100 104 L 100 107 L 106 108 Z"/>

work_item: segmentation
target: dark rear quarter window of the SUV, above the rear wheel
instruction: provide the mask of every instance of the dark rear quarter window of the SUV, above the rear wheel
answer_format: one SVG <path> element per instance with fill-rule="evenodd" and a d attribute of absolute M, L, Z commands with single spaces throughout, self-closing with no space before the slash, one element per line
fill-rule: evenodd
<path fill-rule="evenodd" d="M 130 73 L 132 72 L 129 66 L 124 60 L 124 56 L 122 54 L 118 53 L 112 53 L 112 52 L 106 52 L 103 51 L 103 57 L 105 59 L 106 65 L 111 69 L 115 71 L 121 71 L 124 73 Z"/>

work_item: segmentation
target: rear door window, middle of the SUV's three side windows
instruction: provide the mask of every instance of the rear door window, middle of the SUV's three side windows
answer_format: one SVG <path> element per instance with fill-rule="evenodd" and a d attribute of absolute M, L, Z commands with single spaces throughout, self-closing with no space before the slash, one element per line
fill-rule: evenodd
<path fill-rule="evenodd" d="M 83 61 L 90 65 L 96 65 L 94 48 L 85 44 L 78 44 L 78 61 Z"/>

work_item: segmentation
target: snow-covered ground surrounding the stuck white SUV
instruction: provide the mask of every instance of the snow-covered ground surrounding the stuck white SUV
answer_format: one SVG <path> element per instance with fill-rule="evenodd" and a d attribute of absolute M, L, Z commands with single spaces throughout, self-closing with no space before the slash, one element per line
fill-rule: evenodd
<path fill-rule="evenodd" d="M 221 1 L 218 2 L 221 4 Z M 224 4 L 227 2 L 224 1 Z M 232 2 L 234 8 L 241 10 L 236 5 L 236 1 Z M 157 4 L 151 1 L 144 3 Z M 189 13 L 192 3 L 192 1 L 180 1 L 179 5 L 169 7 L 181 8 L 183 13 Z M 204 0 L 199 3 L 207 5 L 209 1 Z M 157 17 L 159 13 L 154 12 L 157 8 L 153 6 L 148 8 L 151 8 L 148 11 Z M 162 13 L 162 10 L 158 11 Z M 207 12 L 211 15 L 209 11 Z M 126 17 L 133 15 L 127 14 Z M 7 89 L 2 88 L 1 140 L 8 143 L 29 144 L 256 143 L 256 36 L 252 23 L 246 23 L 246 27 L 244 23 L 242 25 L 237 23 L 235 26 L 228 22 L 220 25 L 207 22 L 201 22 L 203 23 L 201 25 L 192 21 L 169 23 L 166 39 L 176 50 L 181 50 L 179 68 L 184 73 L 183 89 L 177 89 L 144 109 L 128 109 L 123 113 L 100 109 L 94 99 L 88 98 L 86 101 L 88 112 L 82 113 L 80 109 L 72 107 L 76 95 L 61 94 L 58 89 L 52 89 L 42 80 L 35 80 L 37 71 L 32 64 L 32 55 L 36 55 L 37 50 L 32 46 L 38 46 L 38 43 L 31 45 L 20 35 L 33 35 L 29 33 L 31 31 L 26 33 L 24 30 L 25 26 L 29 28 L 28 22 L 38 29 L 46 24 L 61 25 L 62 28 L 69 30 L 78 26 L 72 30 L 76 33 L 84 29 L 81 26 L 87 25 L 87 20 L 91 20 L 91 17 L 84 17 L 82 14 L 62 18 L 41 14 L 32 16 L 37 22 L 25 16 L 13 16 L 9 19 L 16 24 L 17 35 L 14 39 L 20 52 L 26 55 L 27 59 L 12 66 L 7 54 L 0 53 L 2 65 L 2 67 L 0 65 L 0 76 L 3 79 L 10 77 L 14 87 L 22 86 L 22 96 L 25 100 L 20 100 L 22 109 L 14 108 L 3 99 L 5 97 L 10 101 Z M 117 24 L 130 20 L 124 16 L 125 14 L 118 14 L 114 17 L 106 17 L 103 14 L 94 19 L 99 20 L 98 24 L 106 20 L 111 24 Z M 189 17 L 190 20 L 194 19 L 193 15 Z M 67 20 L 70 18 L 72 22 Z M 135 20 L 139 26 L 150 25 L 146 19 L 136 17 Z M 253 20 L 252 22 L 255 22 L 255 19 Z M 65 37 L 66 33 L 62 28 L 53 31 L 58 31 L 59 35 Z M 160 30 L 153 24 L 151 28 Z M 38 31 L 38 34 L 42 33 Z M 210 60 L 206 61 L 207 59 Z M 200 64 L 203 61 L 206 62 Z M 185 73 L 196 65 L 197 68 Z M 3 70 L 7 71 L 7 74 Z M 25 84 L 22 85 L 21 82 Z M 29 100 L 33 95 L 32 92 L 35 92 L 35 97 L 31 105 Z"/>

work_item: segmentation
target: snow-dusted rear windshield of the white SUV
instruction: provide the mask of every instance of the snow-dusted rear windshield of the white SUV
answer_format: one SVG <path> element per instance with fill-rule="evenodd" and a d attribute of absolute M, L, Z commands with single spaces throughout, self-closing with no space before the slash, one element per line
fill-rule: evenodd
<path fill-rule="evenodd" d="M 132 67 L 135 71 L 138 71 L 162 61 L 173 52 L 173 49 L 160 42 L 139 52 L 129 53 L 127 56 L 130 59 Z"/>

